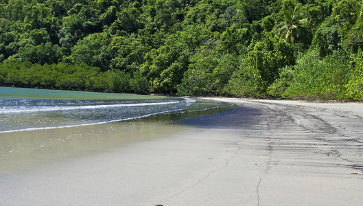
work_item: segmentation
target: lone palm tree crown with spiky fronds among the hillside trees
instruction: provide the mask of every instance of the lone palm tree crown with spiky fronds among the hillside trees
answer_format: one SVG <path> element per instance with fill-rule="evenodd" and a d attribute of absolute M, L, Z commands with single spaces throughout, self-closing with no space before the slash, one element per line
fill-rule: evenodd
<path fill-rule="evenodd" d="M 280 38 L 288 43 L 294 43 L 300 34 L 299 30 L 305 28 L 306 22 L 307 19 L 303 18 L 303 14 L 297 14 L 296 7 L 292 10 L 291 6 L 288 8 L 285 6 L 283 14 L 277 19 L 277 25 L 274 28 Z"/>

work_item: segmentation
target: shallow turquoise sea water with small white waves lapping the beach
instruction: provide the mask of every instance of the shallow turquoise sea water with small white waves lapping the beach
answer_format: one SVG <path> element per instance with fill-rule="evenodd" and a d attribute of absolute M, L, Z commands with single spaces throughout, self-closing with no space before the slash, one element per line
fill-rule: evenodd
<path fill-rule="evenodd" d="M 152 115 L 185 117 L 229 103 L 154 95 L 0 87 L 0 133 L 104 124 Z"/>

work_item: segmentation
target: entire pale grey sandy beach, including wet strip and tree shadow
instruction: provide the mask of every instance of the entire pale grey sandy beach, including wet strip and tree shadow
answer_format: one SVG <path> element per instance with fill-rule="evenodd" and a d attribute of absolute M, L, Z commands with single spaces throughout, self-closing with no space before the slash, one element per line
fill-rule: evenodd
<path fill-rule="evenodd" d="M 237 107 L 2 133 L 0 205 L 363 205 L 363 104 L 214 99 Z"/>

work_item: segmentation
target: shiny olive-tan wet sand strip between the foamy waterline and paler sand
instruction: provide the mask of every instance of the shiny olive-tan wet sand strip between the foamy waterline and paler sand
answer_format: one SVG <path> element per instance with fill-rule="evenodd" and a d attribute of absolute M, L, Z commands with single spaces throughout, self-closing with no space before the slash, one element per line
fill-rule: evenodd
<path fill-rule="evenodd" d="M 167 122 L 135 119 L 93 126 L 1 133 L 0 174 L 95 152 L 106 152 L 136 141 L 162 138 L 186 128 L 165 124 Z"/>

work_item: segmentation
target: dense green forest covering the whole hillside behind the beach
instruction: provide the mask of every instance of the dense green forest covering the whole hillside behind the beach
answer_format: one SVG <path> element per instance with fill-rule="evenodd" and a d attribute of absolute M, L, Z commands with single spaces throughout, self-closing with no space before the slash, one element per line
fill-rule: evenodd
<path fill-rule="evenodd" d="M 0 0 L 0 85 L 363 100 L 361 0 Z"/>

